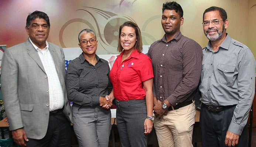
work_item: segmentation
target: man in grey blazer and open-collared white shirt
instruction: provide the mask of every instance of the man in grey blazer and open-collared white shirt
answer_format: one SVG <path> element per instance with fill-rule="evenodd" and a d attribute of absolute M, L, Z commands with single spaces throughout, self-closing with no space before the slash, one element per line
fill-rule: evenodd
<path fill-rule="evenodd" d="M 4 51 L 1 67 L 9 129 L 20 146 L 70 147 L 63 50 L 46 41 L 50 21 L 44 12 L 29 14 L 25 29 L 29 38 Z"/>

